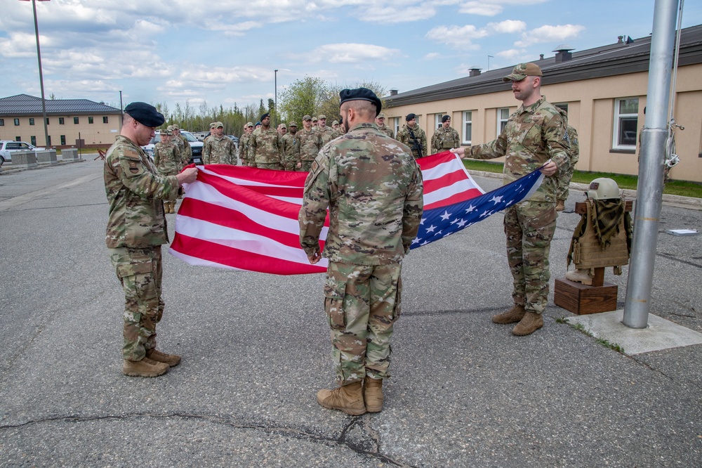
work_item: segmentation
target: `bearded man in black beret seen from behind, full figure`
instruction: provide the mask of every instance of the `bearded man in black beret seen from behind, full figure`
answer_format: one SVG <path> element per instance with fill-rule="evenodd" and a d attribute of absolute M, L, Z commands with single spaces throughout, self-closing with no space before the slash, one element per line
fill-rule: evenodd
<path fill-rule="evenodd" d="M 421 173 L 409 148 L 373 123 L 380 99 L 366 88 L 340 92 L 348 133 L 324 146 L 305 181 L 300 245 L 319 261 L 329 207 L 324 306 L 331 326 L 334 390 L 317 402 L 350 415 L 383 408 L 390 337 L 400 315 L 402 259 L 423 212 Z"/>

